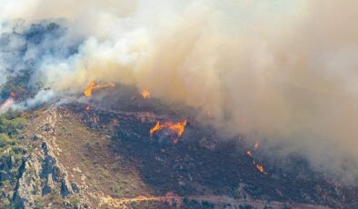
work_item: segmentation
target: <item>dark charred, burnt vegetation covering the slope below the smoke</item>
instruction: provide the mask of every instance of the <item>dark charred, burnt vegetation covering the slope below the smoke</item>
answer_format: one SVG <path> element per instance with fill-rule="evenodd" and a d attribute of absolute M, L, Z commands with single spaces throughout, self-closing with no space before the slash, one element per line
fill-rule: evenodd
<path fill-rule="evenodd" d="M 314 173 L 299 156 L 289 158 L 291 166 L 285 168 L 257 154 L 255 160 L 263 162 L 266 169 L 262 174 L 246 154 L 248 144 L 238 140 L 239 136 L 220 138 L 213 127 L 196 120 L 193 109 L 183 104 L 143 100 L 136 92 L 134 96 L 131 88 L 125 91 L 121 88 L 117 96 L 112 95 L 115 91 L 111 89 L 108 95 L 101 95 L 101 105 L 95 96 L 91 98 L 89 111 L 84 111 L 87 104 L 68 104 L 61 108 L 79 114 L 89 129 L 108 135 L 112 154 L 133 165 L 153 195 L 210 194 L 332 207 L 355 203 L 354 198 L 347 199 L 344 195 L 353 193 L 354 188 L 329 182 L 322 174 Z M 164 142 L 171 140 L 170 134 L 149 134 L 157 121 L 180 122 L 184 118 L 188 124 L 177 144 Z M 95 144 L 86 146 L 91 151 Z M 119 185 L 113 189 L 114 197 L 120 197 L 116 194 L 121 188 Z M 210 205 L 202 206 L 211 208 Z"/>

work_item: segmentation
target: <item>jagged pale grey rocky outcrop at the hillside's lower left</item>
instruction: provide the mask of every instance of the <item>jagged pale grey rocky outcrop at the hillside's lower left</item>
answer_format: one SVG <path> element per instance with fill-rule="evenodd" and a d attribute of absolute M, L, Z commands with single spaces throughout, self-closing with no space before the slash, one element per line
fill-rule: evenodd
<path fill-rule="evenodd" d="M 42 130 L 44 135 L 48 131 L 52 135 L 55 134 L 53 119 L 50 123 L 46 123 L 45 127 L 45 130 Z M 23 159 L 13 196 L 15 205 L 21 208 L 33 208 L 37 204 L 36 201 L 46 194 L 57 193 L 59 196 L 68 197 L 75 192 L 78 193 L 78 186 L 69 182 L 65 167 L 55 156 L 55 148 L 52 145 L 55 136 L 48 139 L 42 134 L 33 134 L 30 138 L 33 141 L 43 141 Z"/>

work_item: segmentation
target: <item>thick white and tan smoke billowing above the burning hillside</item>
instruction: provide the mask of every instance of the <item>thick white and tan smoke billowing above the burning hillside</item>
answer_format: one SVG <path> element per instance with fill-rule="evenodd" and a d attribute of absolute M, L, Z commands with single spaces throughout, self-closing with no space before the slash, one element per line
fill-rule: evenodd
<path fill-rule="evenodd" d="M 82 91 L 93 80 L 137 85 L 204 106 L 226 133 L 280 144 L 348 182 L 358 177 L 356 1 L 0 3 L 3 34 L 14 19 L 24 20 L 21 28 L 43 20 L 65 28 L 27 48 L 60 45 L 31 56 L 33 84 L 57 93 Z"/>

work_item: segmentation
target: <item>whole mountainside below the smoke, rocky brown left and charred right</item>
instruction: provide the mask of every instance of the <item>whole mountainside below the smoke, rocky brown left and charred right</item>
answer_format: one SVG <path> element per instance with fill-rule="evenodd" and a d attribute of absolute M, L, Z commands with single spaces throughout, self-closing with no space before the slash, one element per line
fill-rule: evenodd
<path fill-rule="evenodd" d="M 220 138 L 182 104 L 144 99 L 131 88 L 103 93 L 15 117 L 23 119 L 23 126 L 12 134 L 16 154 L 1 158 L 2 208 L 358 204 L 356 187 L 314 173 L 298 157 L 289 159 L 290 167 L 273 164 L 260 154 L 259 144 L 245 144 L 244 136 Z M 113 94 L 119 94 L 114 96 L 118 99 L 111 99 Z M 184 119 L 187 124 L 177 143 L 170 128 L 149 133 L 157 122 Z"/>

